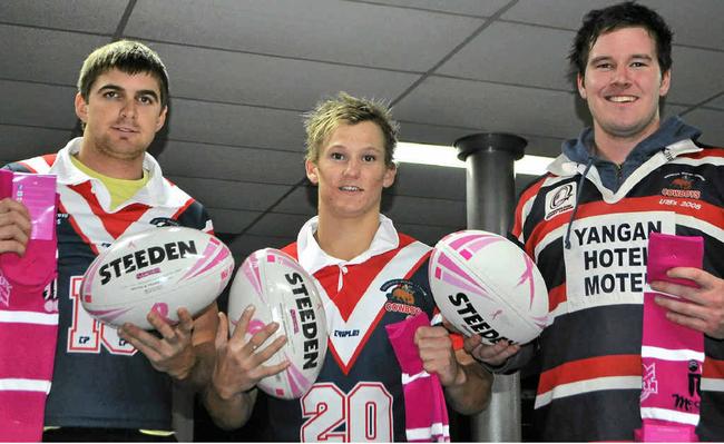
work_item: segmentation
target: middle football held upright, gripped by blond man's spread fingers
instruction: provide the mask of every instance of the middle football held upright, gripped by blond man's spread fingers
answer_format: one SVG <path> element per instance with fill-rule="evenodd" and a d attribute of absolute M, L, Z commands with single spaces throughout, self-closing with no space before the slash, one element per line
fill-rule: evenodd
<path fill-rule="evenodd" d="M 288 359 L 283 372 L 257 384 L 265 393 L 284 398 L 299 398 L 314 384 L 326 355 L 326 317 L 314 285 L 314 278 L 294 258 L 274 248 L 252 253 L 236 272 L 228 295 L 229 329 L 233 330 L 244 308 L 254 305 L 254 317 L 246 341 L 265 325 L 276 322 L 280 328 L 262 347 L 280 335 L 286 344 L 264 365 Z"/>

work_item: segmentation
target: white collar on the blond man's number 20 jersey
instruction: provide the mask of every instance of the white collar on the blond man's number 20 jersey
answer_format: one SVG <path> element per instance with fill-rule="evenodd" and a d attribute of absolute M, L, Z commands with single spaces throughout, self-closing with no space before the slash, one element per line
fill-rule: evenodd
<path fill-rule="evenodd" d="M 314 216 L 302 226 L 302 229 L 300 229 L 300 234 L 296 237 L 296 254 L 300 264 L 310 274 L 314 274 L 330 265 L 343 267 L 345 265 L 362 264 L 372 256 L 390 251 L 400 245 L 400 237 L 398 236 L 398 230 L 394 228 L 394 225 L 392 225 L 392 220 L 380 214 L 380 226 L 372 238 L 370 247 L 351 260 L 342 260 L 327 255 L 320 247 L 320 244 L 316 243 L 314 234 L 316 233 L 316 227 L 319 225 L 320 217 Z"/>

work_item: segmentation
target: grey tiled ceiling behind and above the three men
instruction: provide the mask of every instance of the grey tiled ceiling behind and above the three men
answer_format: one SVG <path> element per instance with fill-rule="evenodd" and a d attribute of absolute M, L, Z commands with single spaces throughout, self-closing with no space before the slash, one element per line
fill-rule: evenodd
<path fill-rule="evenodd" d="M 75 134 L 84 58 L 118 38 L 157 50 L 172 111 L 151 151 L 204 203 L 237 259 L 294 239 L 314 214 L 301 114 L 324 96 L 389 100 L 407 141 L 515 132 L 555 156 L 586 122 L 566 56 L 604 0 L 2 0 L 0 162 Z M 681 114 L 724 140 L 724 1 L 649 0 L 675 30 Z M 529 177 L 518 179 L 518 187 Z M 392 205 L 393 204 L 393 205 Z M 464 227 L 464 171 L 403 165 L 384 210 L 428 243 Z"/>

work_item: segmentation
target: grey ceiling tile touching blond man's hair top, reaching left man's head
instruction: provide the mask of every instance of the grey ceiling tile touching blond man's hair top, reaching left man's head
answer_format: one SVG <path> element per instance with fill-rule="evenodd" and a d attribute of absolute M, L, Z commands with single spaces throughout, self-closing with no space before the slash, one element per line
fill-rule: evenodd
<path fill-rule="evenodd" d="M 154 43 L 151 47 L 162 56 L 170 72 L 174 96 L 190 99 L 306 111 L 323 96 L 342 90 L 389 101 L 419 77 L 178 45 Z M 288 88 L 300 85 L 304 88 Z"/>

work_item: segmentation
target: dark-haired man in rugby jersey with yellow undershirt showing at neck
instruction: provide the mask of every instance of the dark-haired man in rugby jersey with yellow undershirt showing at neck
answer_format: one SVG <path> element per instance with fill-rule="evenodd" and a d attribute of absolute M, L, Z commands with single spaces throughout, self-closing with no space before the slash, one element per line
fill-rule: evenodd
<path fill-rule="evenodd" d="M 172 384 L 205 385 L 213 362 L 216 305 L 173 326 L 151 312 L 158 334 L 92 320 L 78 284 L 99 251 L 127 233 L 182 225 L 213 231 L 204 207 L 163 177 L 146 152 L 168 112 L 168 75 L 135 41 L 96 49 L 84 62 L 75 109 L 84 135 L 57 154 L 10 164 L 58 180 L 59 328 L 45 410 L 45 441 L 175 441 Z M 0 203 L 0 248 L 23 254 L 28 214 Z M 12 253 L 4 253 L 12 254 Z M 138 353 L 140 352 L 140 353 Z M 27 351 L 33 353 L 33 351 Z M 170 377 L 168 377 L 170 376 Z"/>

